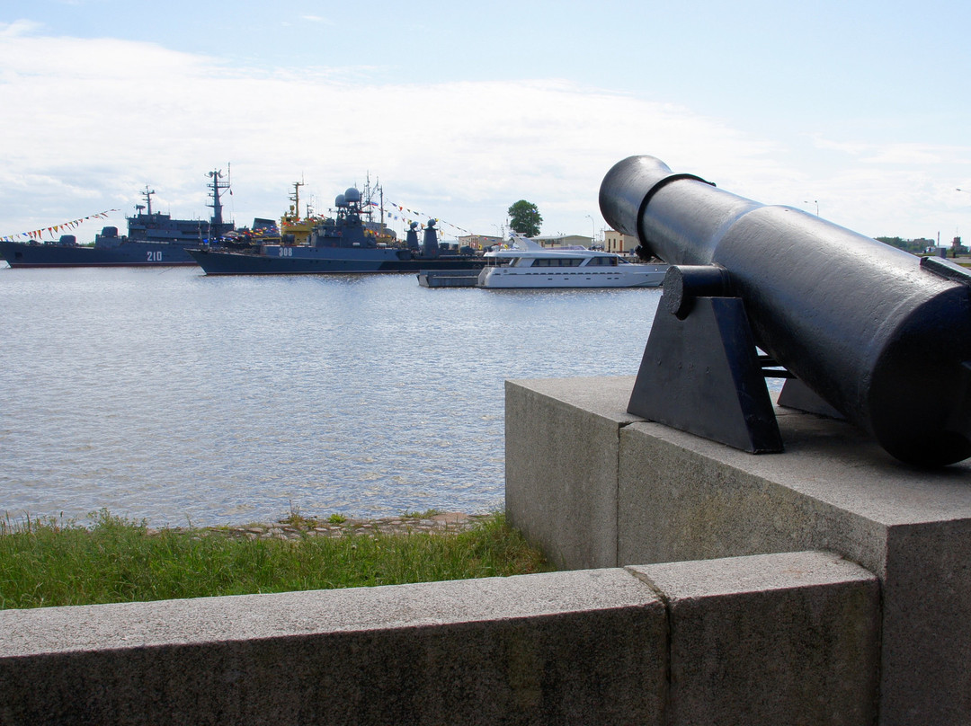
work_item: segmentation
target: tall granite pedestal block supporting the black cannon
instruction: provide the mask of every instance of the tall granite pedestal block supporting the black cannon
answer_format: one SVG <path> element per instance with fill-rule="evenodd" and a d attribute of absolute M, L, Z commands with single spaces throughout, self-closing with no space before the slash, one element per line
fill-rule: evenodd
<path fill-rule="evenodd" d="M 626 413 L 633 382 L 507 381 L 513 525 L 576 569 L 839 553 L 880 580 L 880 723 L 971 721 L 971 465 L 781 409 L 786 451 L 748 454 Z"/>

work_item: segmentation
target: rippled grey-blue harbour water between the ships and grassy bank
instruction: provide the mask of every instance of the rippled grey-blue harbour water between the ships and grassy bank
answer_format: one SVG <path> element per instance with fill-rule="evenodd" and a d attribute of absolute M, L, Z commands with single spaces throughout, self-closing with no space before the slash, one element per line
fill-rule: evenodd
<path fill-rule="evenodd" d="M 635 374 L 659 297 L 3 267 L 0 512 L 501 509 L 503 380 Z"/>

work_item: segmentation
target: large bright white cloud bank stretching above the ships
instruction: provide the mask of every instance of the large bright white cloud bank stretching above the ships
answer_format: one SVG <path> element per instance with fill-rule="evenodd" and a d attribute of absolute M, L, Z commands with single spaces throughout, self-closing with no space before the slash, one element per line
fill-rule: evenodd
<path fill-rule="evenodd" d="M 886 218 L 893 227 L 886 215 L 910 180 L 881 177 L 887 188 L 877 198 L 881 185 L 865 170 L 950 153 L 818 138 L 817 148 L 847 157 L 869 181 L 838 172 L 813 179 L 786 165 L 778 141 L 681 106 L 572 82 L 387 84 L 362 80 L 375 77 L 367 69 L 352 69 L 352 81 L 344 69 L 239 70 L 151 44 L 44 38 L 18 23 L 0 25 L 8 151 L 0 234 L 111 207 L 129 212 L 146 183 L 161 209 L 205 215 L 205 173 L 227 162 L 238 223 L 280 214 L 301 178 L 323 209 L 370 174 L 386 198 L 463 229 L 493 232 L 524 198 L 539 206 L 544 231 L 586 232 L 587 214 L 600 226 L 604 174 L 633 153 L 765 203 L 795 205 L 825 185 L 849 201 L 820 199 L 824 216 L 827 207 L 845 209 L 843 223 L 888 234 L 868 225 Z M 966 161 L 967 149 L 956 151 Z M 865 205 L 851 209 L 861 195 Z M 121 215 L 114 222 L 123 225 Z"/>

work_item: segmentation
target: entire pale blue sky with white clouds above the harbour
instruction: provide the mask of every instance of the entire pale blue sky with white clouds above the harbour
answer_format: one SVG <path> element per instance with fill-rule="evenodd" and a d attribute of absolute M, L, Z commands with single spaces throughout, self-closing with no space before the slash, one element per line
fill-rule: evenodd
<path fill-rule="evenodd" d="M 146 188 L 206 218 L 216 170 L 238 225 L 294 182 L 326 214 L 370 180 L 446 239 L 520 199 L 543 234 L 600 236 L 604 175 L 651 154 L 868 236 L 967 242 L 969 28 L 963 0 L 4 0 L 0 236 L 84 220 L 87 242 Z"/>

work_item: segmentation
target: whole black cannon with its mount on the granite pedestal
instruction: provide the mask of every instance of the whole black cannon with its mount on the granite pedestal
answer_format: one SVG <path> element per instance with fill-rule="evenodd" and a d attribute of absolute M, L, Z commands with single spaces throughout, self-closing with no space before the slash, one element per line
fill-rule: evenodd
<path fill-rule="evenodd" d="M 672 265 L 628 411 L 780 451 L 779 404 L 841 415 L 919 466 L 971 456 L 971 273 L 653 156 L 608 172 L 600 210 Z M 759 353 L 759 350 L 761 353 Z"/>

